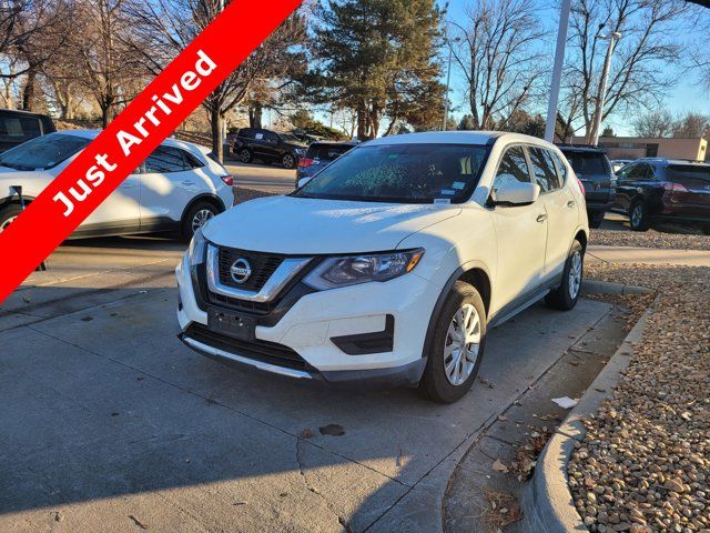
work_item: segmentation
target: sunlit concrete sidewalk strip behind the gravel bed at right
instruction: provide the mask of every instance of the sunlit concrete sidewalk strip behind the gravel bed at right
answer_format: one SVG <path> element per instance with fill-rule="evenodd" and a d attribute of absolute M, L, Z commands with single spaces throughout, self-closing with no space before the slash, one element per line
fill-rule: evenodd
<path fill-rule="evenodd" d="M 646 263 L 679 266 L 710 266 L 710 252 L 703 250 L 666 250 L 632 247 L 599 247 L 590 244 L 588 263 Z"/>

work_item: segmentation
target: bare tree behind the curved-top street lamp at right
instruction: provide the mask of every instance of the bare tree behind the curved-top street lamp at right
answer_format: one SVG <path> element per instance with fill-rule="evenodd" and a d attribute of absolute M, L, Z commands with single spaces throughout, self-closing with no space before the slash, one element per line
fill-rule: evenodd
<path fill-rule="evenodd" d="M 687 9 L 679 0 L 575 0 L 566 80 L 568 91 L 581 101 L 587 142 L 597 133 L 594 118 L 608 47 L 605 34 L 619 32 L 622 38 L 613 54 L 602 122 L 619 109 L 660 103 L 673 86 L 676 77 L 668 66 L 677 62 L 680 47 L 670 24 Z"/>

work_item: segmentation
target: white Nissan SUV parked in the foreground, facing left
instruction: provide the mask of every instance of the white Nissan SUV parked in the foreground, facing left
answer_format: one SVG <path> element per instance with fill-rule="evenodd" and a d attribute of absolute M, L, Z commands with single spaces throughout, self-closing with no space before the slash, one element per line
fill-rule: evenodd
<path fill-rule="evenodd" d="M 195 234 L 176 269 L 181 339 L 223 362 L 453 402 L 489 328 L 541 298 L 575 306 L 588 232 L 581 187 L 550 143 L 377 139 Z"/>

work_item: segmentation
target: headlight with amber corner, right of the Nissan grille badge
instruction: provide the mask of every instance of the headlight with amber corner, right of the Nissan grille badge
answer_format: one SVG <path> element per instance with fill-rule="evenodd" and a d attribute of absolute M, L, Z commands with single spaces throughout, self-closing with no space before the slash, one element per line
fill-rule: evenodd
<path fill-rule="evenodd" d="M 405 252 L 328 258 L 303 281 L 321 291 L 368 281 L 388 281 L 412 272 L 422 255 L 424 250 L 417 249 Z"/>

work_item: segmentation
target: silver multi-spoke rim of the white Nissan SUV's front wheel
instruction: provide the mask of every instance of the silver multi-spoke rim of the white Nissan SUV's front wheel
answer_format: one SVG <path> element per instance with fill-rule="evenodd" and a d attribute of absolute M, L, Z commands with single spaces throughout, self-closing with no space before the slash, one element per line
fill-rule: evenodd
<path fill-rule="evenodd" d="M 444 372 L 452 385 L 460 385 L 474 371 L 480 331 L 480 316 L 474 305 L 466 303 L 454 313 L 444 341 Z"/>

